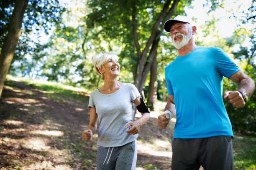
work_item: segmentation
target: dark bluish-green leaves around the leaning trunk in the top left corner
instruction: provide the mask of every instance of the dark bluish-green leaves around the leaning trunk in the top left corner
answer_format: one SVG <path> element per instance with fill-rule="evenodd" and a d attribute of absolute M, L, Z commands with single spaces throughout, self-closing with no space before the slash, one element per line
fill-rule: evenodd
<path fill-rule="evenodd" d="M 0 48 L 3 46 L 3 42 L 7 35 L 8 25 L 10 23 L 10 17 L 14 8 L 14 0 L 4 0 L 0 2 L 0 8 L 3 9 L 0 12 Z M 65 8 L 61 6 L 59 0 L 29 0 L 28 7 L 25 11 L 22 25 L 22 33 L 19 37 L 19 42 L 13 62 L 18 62 L 18 67 L 10 67 L 10 70 L 17 74 L 16 70 L 23 75 L 28 75 L 33 68 L 33 61 L 28 58 L 28 54 L 36 52 L 36 44 L 38 38 L 40 38 L 40 32 L 49 34 L 51 28 L 57 27 L 61 23 L 61 14 L 65 11 Z M 34 38 L 34 37 L 37 38 Z M 16 65 L 15 65 L 16 66 Z"/>

